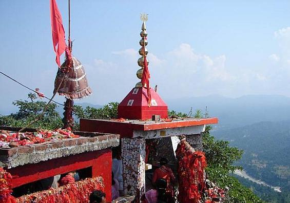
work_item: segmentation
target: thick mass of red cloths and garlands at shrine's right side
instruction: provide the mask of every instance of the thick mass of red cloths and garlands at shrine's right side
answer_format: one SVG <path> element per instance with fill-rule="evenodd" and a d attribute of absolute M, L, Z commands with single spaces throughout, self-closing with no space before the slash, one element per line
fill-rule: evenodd
<path fill-rule="evenodd" d="M 206 159 L 204 152 L 195 151 L 185 139 L 178 144 L 179 194 L 181 203 L 222 202 L 225 191 L 209 180 L 205 180 Z"/>

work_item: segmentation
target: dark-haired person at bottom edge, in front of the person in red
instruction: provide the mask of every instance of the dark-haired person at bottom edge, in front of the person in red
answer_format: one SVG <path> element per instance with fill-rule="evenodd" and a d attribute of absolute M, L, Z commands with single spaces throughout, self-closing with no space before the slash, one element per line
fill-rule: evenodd
<path fill-rule="evenodd" d="M 173 203 L 172 197 L 166 193 L 167 182 L 161 178 L 156 181 L 156 189 L 147 191 L 141 197 L 141 203 Z"/>

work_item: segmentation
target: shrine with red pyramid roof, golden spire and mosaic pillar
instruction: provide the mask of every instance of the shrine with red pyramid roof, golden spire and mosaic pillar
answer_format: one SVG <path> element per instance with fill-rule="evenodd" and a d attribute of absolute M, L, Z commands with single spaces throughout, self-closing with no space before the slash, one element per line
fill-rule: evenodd
<path fill-rule="evenodd" d="M 148 164 L 150 166 L 147 163 L 150 148 L 146 145 L 146 140 L 169 138 L 171 141 L 170 138 L 183 135 L 192 147 L 202 149 L 201 133 L 205 130 L 205 125 L 218 123 L 218 118 L 168 118 L 167 105 L 149 85 L 147 19 L 146 14 L 141 14 L 143 23 L 139 44 L 142 47 L 139 50 L 141 57 L 138 59 L 141 69 L 137 71 L 141 82 L 131 89 L 118 106 L 119 119 L 80 119 L 81 131 L 120 135 L 124 194 L 136 195 L 137 198 L 146 191 L 145 170 Z M 171 151 L 173 153 L 175 149 Z"/>

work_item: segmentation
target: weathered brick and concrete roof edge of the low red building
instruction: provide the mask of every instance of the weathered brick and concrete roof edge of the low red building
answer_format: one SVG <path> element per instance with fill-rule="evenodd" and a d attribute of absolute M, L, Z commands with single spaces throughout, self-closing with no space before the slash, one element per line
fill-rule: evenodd
<path fill-rule="evenodd" d="M 120 135 L 103 134 L 94 137 L 61 139 L 15 148 L 0 148 L 0 167 L 9 169 L 26 164 L 35 164 L 49 159 L 117 147 L 119 144 Z"/>

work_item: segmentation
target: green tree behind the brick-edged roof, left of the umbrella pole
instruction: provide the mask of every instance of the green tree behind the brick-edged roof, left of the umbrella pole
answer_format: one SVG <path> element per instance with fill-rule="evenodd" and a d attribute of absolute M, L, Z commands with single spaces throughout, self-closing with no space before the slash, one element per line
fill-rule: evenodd
<path fill-rule="evenodd" d="M 18 107 L 18 112 L 11 113 L 10 115 L 0 116 L 1 126 L 10 127 L 25 127 L 32 120 L 36 119 L 43 111 L 47 103 L 37 99 L 34 93 L 29 93 L 28 100 L 15 100 L 13 105 Z M 56 104 L 51 103 L 43 117 L 30 126 L 30 128 L 42 128 L 53 130 L 63 126 L 62 118 L 56 112 Z"/>

